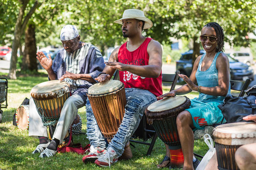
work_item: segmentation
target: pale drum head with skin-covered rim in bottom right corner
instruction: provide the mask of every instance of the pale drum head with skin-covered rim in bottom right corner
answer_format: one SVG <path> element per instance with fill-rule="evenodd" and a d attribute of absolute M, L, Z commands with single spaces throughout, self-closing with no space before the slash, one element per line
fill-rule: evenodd
<path fill-rule="evenodd" d="M 215 142 L 227 145 L 242 145 L 256 142 L 256 123 L 237 122 L 215 127 L 212 135 Z"/>

